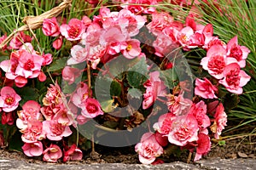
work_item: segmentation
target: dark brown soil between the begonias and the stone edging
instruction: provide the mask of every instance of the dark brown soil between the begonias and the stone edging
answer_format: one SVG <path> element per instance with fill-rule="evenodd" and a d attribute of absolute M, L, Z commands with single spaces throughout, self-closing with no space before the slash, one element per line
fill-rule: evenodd
<path fill-rule="evenodd" d="M 203 156 L 202 159 L 223 158 L 223 159 L 236 159 L 236 158 L 253 158 L 256 161 L 256 136 L 251 137 L 237 137 L 235 139 L 226 139 L 224 144 L 212 142 L 212 150 Z M 172 161 L 186 162 L 189 156 L 188 151 L 183 151 L 180 156 L 162 156 L 160 157 L 166 163 Z M 192 159 L 195 155 L 193 154 Z M 18 151 L 0 150 L 0 157 L 26 161 L 30 163 L 45 163 L 42 157 L 27 157 Z M 192 163 L 193 161 L 190 161 Z M 58 163 L 62 163 L 59 161 Z M 123 148 L 110 148 L 102 145 L 96 145 L 96 154 L 91 156 L 90 152 L 84 153 L 82 161 L 68 161 L 67 164 L 79 163 L 125 163 L 137 164 L 137 153 L 134 151 L 134 146 Z"/>

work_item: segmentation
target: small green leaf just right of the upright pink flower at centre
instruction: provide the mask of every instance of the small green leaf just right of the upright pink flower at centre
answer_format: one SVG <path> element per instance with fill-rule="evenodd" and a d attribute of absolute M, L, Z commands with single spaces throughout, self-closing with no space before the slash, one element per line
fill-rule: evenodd
<path fill-rule="evenodd" d="M 172 89 L 177 86 L 178 78 L 174 69 L 160 71 L 160 78 L 164 81 L 166 87 L 168 88 Z"/>

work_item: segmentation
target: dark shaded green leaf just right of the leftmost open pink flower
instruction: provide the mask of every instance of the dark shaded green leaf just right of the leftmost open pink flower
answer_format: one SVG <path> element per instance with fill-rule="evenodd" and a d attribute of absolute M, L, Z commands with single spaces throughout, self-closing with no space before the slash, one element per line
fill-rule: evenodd
<path fill-rule="evenodd" d="M 20 106 L 24 105 L 28 100 L 38 100 L 39 94 L 36 88 L 16 88 L 15 91 L 20 95 Z"/>

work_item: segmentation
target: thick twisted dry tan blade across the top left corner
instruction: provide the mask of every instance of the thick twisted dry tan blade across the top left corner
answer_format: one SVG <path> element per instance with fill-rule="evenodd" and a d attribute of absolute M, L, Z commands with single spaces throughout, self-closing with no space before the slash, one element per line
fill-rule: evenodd
<path fill-rule="evenodd" d="M 17 32 L 20 31 L 32 31 L 32 30 L 36 30 L 38 28 L 40 28 L 43 24 L 44 19 L 50 19 L 52 17 L 56 17 L 59 14 L 61 14 L 61 12 L 67 8 L 70 4 L 72 3 L 72 0 L 63 0 L 63 2 L 55 7 L 50 9 L 49 11 L 40 14 L 38 16 L 26 16 L 24 18 L 24 20 L 22 20 L 24 22 L 24 24 L 26 24 L 25 26 L 20 26 L 20 28 L 18 28 L 17 30 L 13 31 L 9 37 L 7 37 L 1 44 L 0 44 L 0 48 L 3 48 L 11 39 L 12 37 L 15 36 L 15 34 Z"/>

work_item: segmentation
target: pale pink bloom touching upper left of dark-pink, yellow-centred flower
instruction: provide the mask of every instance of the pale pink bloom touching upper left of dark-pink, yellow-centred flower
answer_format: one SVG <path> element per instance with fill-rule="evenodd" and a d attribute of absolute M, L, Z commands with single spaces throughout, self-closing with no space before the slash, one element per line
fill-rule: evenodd
<path fill-rule="evenodd" d="M 91 94 L 92 94 L 92 91 L 90 90 L 90 95 Z M 88 99 L 88 96 L 89 96 L 88 85 L 84 82 L 80 82 L 76 92 L 71 96 L 71 101 L 77 107 L 82 108 L 84 106 L 85 100 Z"/>

